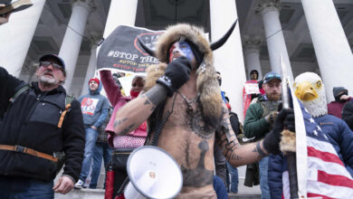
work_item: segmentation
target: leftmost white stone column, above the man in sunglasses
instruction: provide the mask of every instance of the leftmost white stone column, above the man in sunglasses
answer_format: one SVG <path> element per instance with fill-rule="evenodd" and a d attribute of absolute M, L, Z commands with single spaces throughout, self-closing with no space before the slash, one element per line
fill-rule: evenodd
<path fill-rule="evenodd" d="M 45 0 L 32 3 L 32 7 L 11 14 L 9 22 L 0 25 L 0 65 L 14 77 L 20 76 Z"/>

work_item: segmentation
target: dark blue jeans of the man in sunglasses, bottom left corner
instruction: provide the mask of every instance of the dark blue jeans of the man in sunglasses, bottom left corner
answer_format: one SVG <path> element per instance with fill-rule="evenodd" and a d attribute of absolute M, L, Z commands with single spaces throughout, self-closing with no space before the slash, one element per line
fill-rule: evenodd
<path fill-rule="evenodd" d="M 2 199 L 52 199 L 53 183 L 25 177 L 0 176 L 0 198 Z"/>

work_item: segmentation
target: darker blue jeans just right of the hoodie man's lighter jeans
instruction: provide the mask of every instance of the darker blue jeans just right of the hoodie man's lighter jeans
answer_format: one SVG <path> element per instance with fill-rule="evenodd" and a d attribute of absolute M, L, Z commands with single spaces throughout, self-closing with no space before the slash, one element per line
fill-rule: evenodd
<path fill-rule="evenodd" d="M 110 162 L 112 151 L 113 149 L 111 149 L 108 143 L 96 143 L 96 146 L 93 150 L 93 166 L 90 184 L 91 189 L 95 189 L 97 187 L 98 177 L 100 176 L 101 159 L 103 158 L 104 167 L 107 168 L 107 165 Z"/>

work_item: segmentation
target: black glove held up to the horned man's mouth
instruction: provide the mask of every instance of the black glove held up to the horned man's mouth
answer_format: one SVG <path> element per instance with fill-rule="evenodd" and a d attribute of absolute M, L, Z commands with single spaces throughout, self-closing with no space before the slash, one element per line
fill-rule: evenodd
<path fill-rule="evenodd" d="M 157 83 L 162 84 L 168 90 L 168 96 L 178 90 L 189 80 L 191 65 L 186 57 L 178 57 L 167 65 L 164 75 L 158 78 Z"/>

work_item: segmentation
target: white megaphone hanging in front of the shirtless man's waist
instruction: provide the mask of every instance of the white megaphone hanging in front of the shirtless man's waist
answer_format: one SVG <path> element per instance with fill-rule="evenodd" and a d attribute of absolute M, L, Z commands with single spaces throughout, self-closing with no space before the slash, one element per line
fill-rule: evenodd
<path fill-rule="evenodd" d="M 174 198 L 183 185 L 183 175 L 176 160 L 160 147 L 144 146 L 129 156 L 127 199 Z"/>

